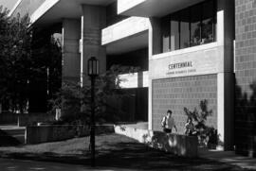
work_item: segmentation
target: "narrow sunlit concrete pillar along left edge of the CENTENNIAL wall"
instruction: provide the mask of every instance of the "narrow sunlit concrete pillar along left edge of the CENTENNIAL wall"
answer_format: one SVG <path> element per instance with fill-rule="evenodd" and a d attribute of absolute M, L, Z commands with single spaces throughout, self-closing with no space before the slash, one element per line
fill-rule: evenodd
<path fill-rule="evenodd" d="M 148 128 L 153 128 L 152 118 L 152 65 L 151 60 L 155 54 L 161 53 L 161 22 L 159 18 L 150 18 L 149 26 L 149 109 L 148 109 Z"/>

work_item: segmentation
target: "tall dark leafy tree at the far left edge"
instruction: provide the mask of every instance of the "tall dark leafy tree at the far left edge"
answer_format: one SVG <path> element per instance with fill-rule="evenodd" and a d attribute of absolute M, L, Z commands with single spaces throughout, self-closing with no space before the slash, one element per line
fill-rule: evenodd
<path fill-rule="evenodd" d="M 0 7 L 0 101 L 11 111 L 27 108 L 27 83 L 31 76 L 31 32 L 28 15 L 9 18 Z"/>

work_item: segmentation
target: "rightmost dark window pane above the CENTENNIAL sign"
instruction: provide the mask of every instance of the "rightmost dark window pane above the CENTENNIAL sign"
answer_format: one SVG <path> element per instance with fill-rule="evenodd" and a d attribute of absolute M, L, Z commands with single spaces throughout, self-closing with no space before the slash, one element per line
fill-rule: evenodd
<path fill-rule="evenodd" d="M 202 43 L 212 43 L 214 41 L 214 4 L 208 1 L 203 4 L 202 14 Z"/>

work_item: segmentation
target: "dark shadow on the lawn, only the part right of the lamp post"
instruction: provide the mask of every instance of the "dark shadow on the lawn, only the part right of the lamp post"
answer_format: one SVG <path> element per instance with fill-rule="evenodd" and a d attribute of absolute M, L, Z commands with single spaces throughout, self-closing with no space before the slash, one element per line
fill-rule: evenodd
<path fill-rule="evenodd" d="M 241 170 L 222 162 L 177 157 L 137 143 L 120 143 L 112 145 L 111 151 L 101 150 L 97 163 L 139 170 Z"/>

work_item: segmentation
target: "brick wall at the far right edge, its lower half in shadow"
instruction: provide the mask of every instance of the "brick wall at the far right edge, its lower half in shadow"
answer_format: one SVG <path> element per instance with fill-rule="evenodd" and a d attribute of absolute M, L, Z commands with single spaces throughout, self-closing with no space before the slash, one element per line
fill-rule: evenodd
<path fill-rule="evenodd" d="M 235 0 L 235 145 L 256 156 L 256 0 Z"/>

